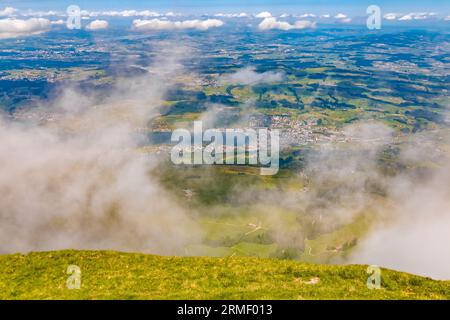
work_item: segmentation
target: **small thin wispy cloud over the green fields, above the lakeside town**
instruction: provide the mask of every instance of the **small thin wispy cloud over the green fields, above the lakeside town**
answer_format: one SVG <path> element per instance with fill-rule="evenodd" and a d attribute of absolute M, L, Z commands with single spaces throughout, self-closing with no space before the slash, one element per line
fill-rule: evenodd
<path fill-rule="evenodd" d="M 238 70 L 236 73 L 226 75 L 220 79 L 222 83 L 255 85 L 258 83 L 273 83 L 283 81 L 285 74 L 283 72 L 267 71 L 257 73 L 255 68 L 247 67 Z"/>

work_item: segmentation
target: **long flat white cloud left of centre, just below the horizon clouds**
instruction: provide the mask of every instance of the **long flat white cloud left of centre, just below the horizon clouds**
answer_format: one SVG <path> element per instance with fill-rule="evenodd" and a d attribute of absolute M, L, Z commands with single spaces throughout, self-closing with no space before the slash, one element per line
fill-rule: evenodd
<path fill-rule="evenodd" d="M 208 30 L 209 28 L 221 26 L 223 26 L 223 21 L 217 19 L 185 20 L 185 21 L 137 19 L 133 21 L 133 27 L 136 30 L 174 30 L 174 29 Z"/>

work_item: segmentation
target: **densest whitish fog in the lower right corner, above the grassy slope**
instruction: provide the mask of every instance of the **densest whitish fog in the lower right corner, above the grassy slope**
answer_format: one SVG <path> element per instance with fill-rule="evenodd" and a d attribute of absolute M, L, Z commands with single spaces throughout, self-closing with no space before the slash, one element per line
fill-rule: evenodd
<path fill-rule="evenodd" d="M 400 155 L 410 165 L 438 166 L 400 174 L 388 181 L 387 219 L 362 239 L 350 262 L 376 264 L 435 279 L 450 279 L 450 163 L 436 159 L 442 145 L 435 137 L 413 137 Z M 445 138 L 448 144 L 450 139 Z M 441 150 L 441 152 L 445 152 Z M 441 160 L 441 161 L 439 161 Z M 382 210 L 381 208 L 380 210 Z M 384 210 L 386 210 L 384 208 Z"/>

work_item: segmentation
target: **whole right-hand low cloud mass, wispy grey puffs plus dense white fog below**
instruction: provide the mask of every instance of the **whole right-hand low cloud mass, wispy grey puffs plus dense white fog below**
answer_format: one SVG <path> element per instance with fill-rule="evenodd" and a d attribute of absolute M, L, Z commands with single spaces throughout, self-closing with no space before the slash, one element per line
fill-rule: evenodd
<path fill-rule="evenodd" d="M 450 137 L 412 135 L 391 160 L 404 169 L 386 174 L 380 156 L 395 144 L 392 129 L 362 122 L 343 133 L 344 147 L 327 144 L 307 159 L 303 172 L 314 187 L 302 199 L 306 214 L 328 217 L 325 227 L 349 223 L 361 213 L 375 218 L 350 258 L 339 262 L 450 279 L 450 162 L 442 146 Z"/>

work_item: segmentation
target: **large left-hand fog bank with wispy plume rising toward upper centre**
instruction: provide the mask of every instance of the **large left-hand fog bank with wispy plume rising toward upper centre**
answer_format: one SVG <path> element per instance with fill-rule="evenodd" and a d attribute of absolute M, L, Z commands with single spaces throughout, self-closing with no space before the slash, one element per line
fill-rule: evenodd
<path fill-rule="evenodd" d="M 0 120 L 0 252 L 114 249 L 183 254 L 201 235 L 149 175 L 158 159 L 136 151 L 165 91 L 181 74 L 162 48 L 152 73 L 117 79 L 106 98 L 65 88 L 31 114 Z M 25 113 L 27 118 L 27 113 Z"/>

